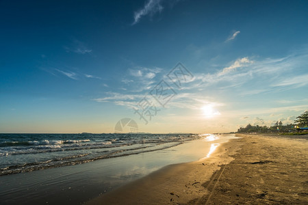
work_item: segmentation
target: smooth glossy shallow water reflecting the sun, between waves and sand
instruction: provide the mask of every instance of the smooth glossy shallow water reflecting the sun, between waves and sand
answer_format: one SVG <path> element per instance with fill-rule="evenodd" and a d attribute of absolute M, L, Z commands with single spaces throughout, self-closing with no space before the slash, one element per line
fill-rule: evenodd
<path fill-rule="evenodd" d="M 159 148 L 157 143 L 154 151 L 0 176 L 1 203 L 80 204 L 166 165 L 207 157 L 212 144 L 235 138 L 234 135 L 198 136 L 166 148 Z"/>

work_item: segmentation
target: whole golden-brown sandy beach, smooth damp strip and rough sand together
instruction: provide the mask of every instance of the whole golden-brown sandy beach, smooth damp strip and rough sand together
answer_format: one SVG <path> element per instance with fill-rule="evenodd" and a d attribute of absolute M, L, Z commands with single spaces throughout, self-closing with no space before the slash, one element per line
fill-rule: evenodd
<path fill-rule="evenodd" d="M 239 135 L 88 204 L 308 204 L 308 140 Z"/>

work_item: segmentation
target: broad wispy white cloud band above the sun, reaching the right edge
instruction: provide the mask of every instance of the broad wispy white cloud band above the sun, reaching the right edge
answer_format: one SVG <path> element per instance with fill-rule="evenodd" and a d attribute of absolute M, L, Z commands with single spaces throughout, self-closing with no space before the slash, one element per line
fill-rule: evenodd
<path fill-rule="evenodd" d="M 242 57 L 217 72 L 194 74 L 194 82 L 184 89 L 206 89 L 211 85 L 221 83 L 221 88 L 241 87 L 243 94 L 251 95 L 273 90 L 279 92 L 285 89 L 303 87 L 308 84 L 307 73 L 305 73 L 305 68 L 303 67 L 307 64 L 307 57 L 306 52 L 276 59 L 257 59 L 257 57 L 253 57 L 254 60 L 251 60 L 251 57 Z M 248 82 L 258 83 L 258 87 L 248 89 L 248 87 L 252 87 L 250 85 L 242 86 Z"/>

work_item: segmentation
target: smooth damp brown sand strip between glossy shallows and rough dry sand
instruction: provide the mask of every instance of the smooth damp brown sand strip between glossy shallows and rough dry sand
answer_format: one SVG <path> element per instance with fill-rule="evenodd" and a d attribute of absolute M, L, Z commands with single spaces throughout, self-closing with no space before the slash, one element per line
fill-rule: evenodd
<path fill-rule="evenodd" d="M 221 165 L 233 161 L 230 154 L 240 150 L 238 139 L 220 143 L 209 157 L 189 163 L 167 165 L 143 178 L 96 197 L 86 204 L 183 204 L 207 192 L 202 184 Z"/>

